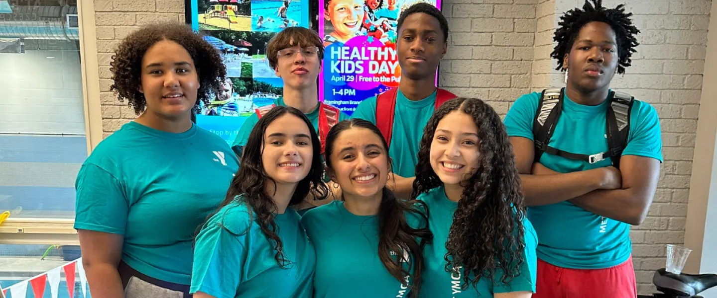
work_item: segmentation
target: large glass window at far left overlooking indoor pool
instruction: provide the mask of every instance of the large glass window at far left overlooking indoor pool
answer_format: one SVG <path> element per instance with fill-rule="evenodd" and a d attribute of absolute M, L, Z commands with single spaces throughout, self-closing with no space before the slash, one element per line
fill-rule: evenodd
<path fill-rule="evenodd" d="M 1 289 L 80 258 L 72 221 L 87 131 L 78 11 L 77 0 L 0 0 L 0 214 L 10 212 L 0 224 Z M 85 297 L 78 270 L 50 279 L 42 297 Z M 28 297 L 34 287 L 42 285 L 29 284 Z"/>

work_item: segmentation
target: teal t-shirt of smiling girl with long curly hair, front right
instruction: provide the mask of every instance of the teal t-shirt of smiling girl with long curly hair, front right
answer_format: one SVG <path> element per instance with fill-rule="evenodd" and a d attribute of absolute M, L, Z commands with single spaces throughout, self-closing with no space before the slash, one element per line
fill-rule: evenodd
<path fill-rule="evenodd" d="M 423 252 L 425 268 L 423 271 L 423 285 L 419 293 L 420 297 L 493 297 L 497 293 L 536 291 L 536 274 L 538 270 L 536 246 L 538 245 L 538 239 L 531 222 L 527 218 L 523 218 L 526 248 L 523 251 L 524 261 L 521 274 L 518 277 L 514 277 L 510 284 L 506 286 L 500 283 L 500 279 L 503 276 L 498 273 L 494 277 L 494 280 L 498 281 L 498 283 L 490 282 L 488 279 L 480 279 L 475 288 L 469 286 L 464 291 L 462 290 L 462 285 L 465 283 L 463 281 L 463 269 L 446 272 L 445 266 L 447 262 L 444 259 L 445 254 L 448 252 L 445 244 L 448 240 L 448 232 L 450 232 L 450 227 L 453 224 L 453 213 L 457 209 L 458 203 L 446 197 L 445 189 L 442 186 L 420 194 L 418 199 L 428 206 L 428 227 L 433 232 L 433 242 L 428 244 Z"/>

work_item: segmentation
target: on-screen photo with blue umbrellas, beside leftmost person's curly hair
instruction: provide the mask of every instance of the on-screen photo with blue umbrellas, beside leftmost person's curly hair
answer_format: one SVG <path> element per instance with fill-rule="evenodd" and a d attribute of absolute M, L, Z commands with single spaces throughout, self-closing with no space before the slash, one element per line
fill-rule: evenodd
<path fill-rule="evenodd" d="M 252 43 L 249 31 L 200 31 L 222 56 L 230 78 L 250 78 L 252 71 Z"/>

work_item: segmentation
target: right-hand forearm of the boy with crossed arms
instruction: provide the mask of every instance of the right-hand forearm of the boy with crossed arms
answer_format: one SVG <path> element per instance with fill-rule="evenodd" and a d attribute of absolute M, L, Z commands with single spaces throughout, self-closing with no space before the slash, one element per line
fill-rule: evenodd
<path fill-rule="evenodd" d="M 638 195 L 633 194 L 630 189 L 599 189 L 571 199 L 570 202 L 599 216 L 639 225 L 647 217 L 648 208 L 645 208 L 646 200 L 637 197 Z M 647 199 L 647 206 L 651 202 L 650 197 Z"/>

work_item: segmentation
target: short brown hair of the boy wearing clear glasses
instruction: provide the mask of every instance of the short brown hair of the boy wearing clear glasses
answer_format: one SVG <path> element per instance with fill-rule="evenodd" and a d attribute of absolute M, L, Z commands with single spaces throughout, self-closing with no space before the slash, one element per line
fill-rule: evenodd
<path fill-rule="evenodd" d="M 292 46 L 315 46 L 318 48 L 318 60 L 323 59 L 323 41 L 316 31 L 303 27 L 289 27 L 272 37 L 267 44 L 267 60 L 271 69 L 276 70 L 279 51 Z"/>

